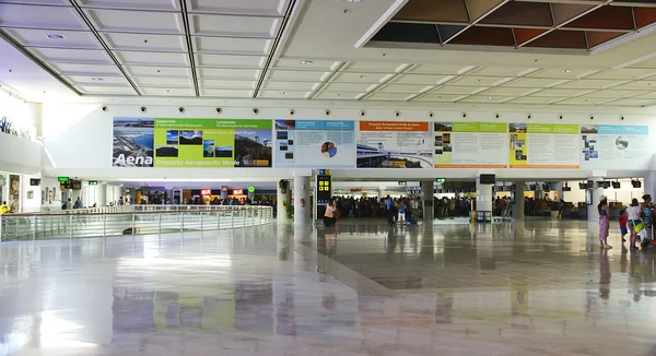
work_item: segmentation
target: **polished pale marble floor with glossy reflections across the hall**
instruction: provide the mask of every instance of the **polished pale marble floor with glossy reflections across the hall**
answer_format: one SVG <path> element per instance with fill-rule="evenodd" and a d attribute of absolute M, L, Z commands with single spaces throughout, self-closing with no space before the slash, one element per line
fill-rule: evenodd
<path fill-rule="evenodd" d="M 0 355 L 656 355 L 656 250 L 465 221 L 0 245 Z"/>

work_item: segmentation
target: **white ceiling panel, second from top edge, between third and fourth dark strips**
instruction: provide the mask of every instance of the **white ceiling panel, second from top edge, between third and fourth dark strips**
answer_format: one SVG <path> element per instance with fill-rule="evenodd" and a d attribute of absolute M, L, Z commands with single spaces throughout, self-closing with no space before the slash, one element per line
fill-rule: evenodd
<path fill-rule="evenodd" d="M 280 19 L 189 15 L 191 34 L 197 36 L 265 37 L 273 38 L 280 27 Z"/>

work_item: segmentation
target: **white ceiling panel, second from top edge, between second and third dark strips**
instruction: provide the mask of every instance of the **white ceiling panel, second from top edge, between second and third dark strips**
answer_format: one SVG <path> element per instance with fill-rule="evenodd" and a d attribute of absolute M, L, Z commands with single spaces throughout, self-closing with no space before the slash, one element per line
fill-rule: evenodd
<path fill-rule="evenodd" d="M 99 32 L 181 34 L 183 17 L 174 12 L 84 10 Z"/>

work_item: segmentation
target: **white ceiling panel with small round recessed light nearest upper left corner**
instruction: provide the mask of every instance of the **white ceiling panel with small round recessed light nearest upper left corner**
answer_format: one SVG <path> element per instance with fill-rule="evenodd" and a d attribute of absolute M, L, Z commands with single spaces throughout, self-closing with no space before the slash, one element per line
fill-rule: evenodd
<path fill-rule="evenodd" d="M 57 35 L 63 38 L 48 38 L 48 35 L 52 35 L 49 29 L 13 28 L 7 29 L 7 33 L 26 47 L 102 49 L 91 32 L 57 31 Z"/>

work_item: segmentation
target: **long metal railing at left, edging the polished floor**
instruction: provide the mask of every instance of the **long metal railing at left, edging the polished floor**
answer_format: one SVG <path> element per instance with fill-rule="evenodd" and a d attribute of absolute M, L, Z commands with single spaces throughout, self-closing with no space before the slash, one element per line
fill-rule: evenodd
<path fill-rule="evenodd" d="M 102 214 L 82 213 L 82 210 L 5 214 L 0 218 L 0 241 L 215 230 L 265 225 L 273 221 L 271 206 L 207 207 L 212 209 L 198 205 L 187 210 L 134 210 Z"/>

